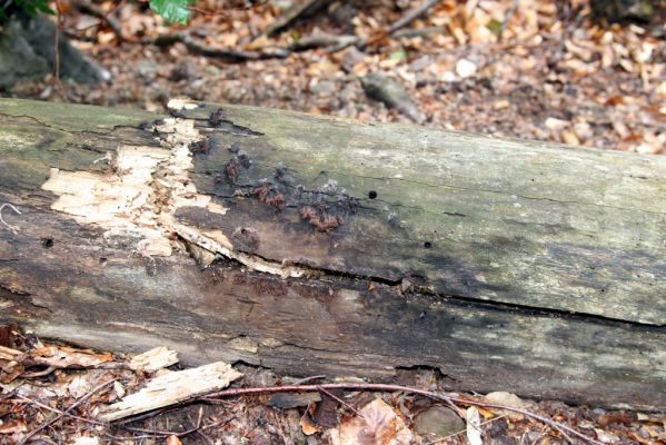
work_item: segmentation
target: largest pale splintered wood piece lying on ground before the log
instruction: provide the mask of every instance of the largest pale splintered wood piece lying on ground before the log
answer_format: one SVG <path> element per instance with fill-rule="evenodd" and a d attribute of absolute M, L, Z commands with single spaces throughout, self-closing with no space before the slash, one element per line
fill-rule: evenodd
<path fill-rule="evenodd" d="M 170 406 L 201 394 L 219 390 L 242 374 L 223 362 L 168 373 L 148 382 L 145 388 L 107 407 L 100 419 L 107 422 Z"/>

